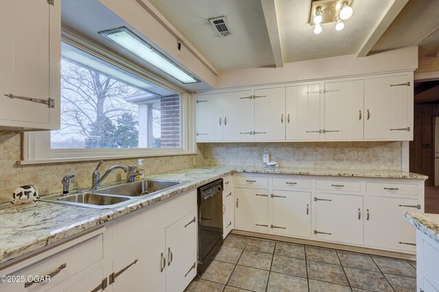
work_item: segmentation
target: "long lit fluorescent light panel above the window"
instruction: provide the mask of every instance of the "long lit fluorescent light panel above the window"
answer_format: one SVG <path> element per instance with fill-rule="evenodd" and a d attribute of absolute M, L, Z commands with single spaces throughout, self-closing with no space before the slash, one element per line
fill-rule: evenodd
<path fill-rule="evenodd" d="M 200 82 L 126 27 L 109 29 L 99 34 L 184 84 Z"/>

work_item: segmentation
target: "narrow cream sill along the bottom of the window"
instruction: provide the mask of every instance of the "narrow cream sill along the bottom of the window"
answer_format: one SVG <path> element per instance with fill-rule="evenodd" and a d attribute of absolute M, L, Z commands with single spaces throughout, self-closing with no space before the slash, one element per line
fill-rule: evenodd
<path fill-rule="evenodd" d="M 157 154 L 125 154 L 125 155 L 111 155 L 111 156 L 87 156 L 77 158 L 48 158 L 41 160 L 18 160 L 17 165 L 45 165 L 50 163 L 62 163 L 62 162 L 81 162 L 81 161 L 97 161 L 97 160 L 115 160 L 123 158 L 147 158 L 147 157 L 160 157 L 160 156 L 182 156 L 182 155 L 197 155 L 197 153 L 157 153 Z"/>

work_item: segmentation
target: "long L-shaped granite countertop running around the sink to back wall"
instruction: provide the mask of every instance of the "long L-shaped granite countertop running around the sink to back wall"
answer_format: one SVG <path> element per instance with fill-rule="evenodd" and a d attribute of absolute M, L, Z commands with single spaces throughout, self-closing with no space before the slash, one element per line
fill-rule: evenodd
<path fill-rule="evenodd" d="M 111 208 L 82 208 L 47 202 L 31 205 L 0 205 L 0 264 L 23 256 L 29 252 L 40 250 L 69 236 L 78 234 L 89 228 L 121 217 L 129 212 L 150 206 L 163 199 L 178 195 L 191 188 L 196 188 L 228 173 L 278 173 L 289 175 L 332 175 L 359 178 L 400 178 L 426 180 L 425 175 L 403 171 L 340 171 L 327 169 L 280 168 L 265 169 L 263 167 L 212 166 L 195 169 L 182 169 L 169 173 L 150 175 L 147 178 L 163 180 L 180 180 L 183 184 L 170 188 L 156 195 L 139 198 L 129 204 Z"/>

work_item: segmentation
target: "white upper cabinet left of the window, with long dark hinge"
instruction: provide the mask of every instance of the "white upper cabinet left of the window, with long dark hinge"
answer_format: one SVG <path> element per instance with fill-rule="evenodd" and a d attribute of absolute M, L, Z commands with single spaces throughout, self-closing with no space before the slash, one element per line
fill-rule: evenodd
<path fill-rule="evenodd" d="M 0 1 L 0 129 L 60 127 L 60 6 L 59 0 Z"/>

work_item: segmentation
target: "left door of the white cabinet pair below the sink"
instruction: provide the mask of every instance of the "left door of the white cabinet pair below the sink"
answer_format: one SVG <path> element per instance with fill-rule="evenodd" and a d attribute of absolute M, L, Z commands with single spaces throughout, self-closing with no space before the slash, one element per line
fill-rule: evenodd
<path fill-rule="evenodd" d="M 115 259 L 113 291 L 165 291 L 165 230 Z M 125 270 L 123 270 L 125 269 Z M 111 279 L 110 279 L 111 284 Z"/>

